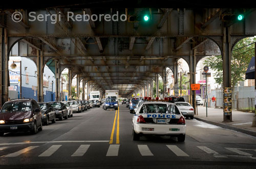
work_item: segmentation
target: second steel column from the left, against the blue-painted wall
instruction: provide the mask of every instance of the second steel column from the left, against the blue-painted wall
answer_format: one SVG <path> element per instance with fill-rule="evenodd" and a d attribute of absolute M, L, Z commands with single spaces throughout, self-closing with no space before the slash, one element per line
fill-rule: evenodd
<path fill-rule="evenodd" d="M 44 57 L 42 50 L 37 50 L 37 101 L 43 102 L 44 101 L 44 88 L 43 88 L 43 77 L 44 77 Z"/>

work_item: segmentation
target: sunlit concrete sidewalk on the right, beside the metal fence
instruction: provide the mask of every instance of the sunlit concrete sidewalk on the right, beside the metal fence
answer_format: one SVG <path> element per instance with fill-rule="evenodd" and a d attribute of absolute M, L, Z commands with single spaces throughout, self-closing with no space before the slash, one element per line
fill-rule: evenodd
<path fill-rule="evenodd" d="M 254 112 L 243 112 L 232 110 L 232 121 L 233 122 L 222 122 L 223 121 L 223 109 L 222 108 L 207 108 L 198 106 L 198 115 L 194 115 L 194 118 L 206 123 L 214 124 L 230 130 L 236 130 L 252 136 L 256 136 L 256 127 L 252 127 L 252 117 L 255 116 Z"/>

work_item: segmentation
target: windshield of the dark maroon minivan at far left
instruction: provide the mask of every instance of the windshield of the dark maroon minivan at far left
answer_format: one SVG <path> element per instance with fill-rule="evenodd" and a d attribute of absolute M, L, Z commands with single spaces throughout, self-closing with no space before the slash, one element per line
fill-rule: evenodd
<path fill-rule="evenodd" d="M 12 102 L 6 103 L 1 112 L 12 112 L 12 111 L 31 111 L 30 102 Z"/>

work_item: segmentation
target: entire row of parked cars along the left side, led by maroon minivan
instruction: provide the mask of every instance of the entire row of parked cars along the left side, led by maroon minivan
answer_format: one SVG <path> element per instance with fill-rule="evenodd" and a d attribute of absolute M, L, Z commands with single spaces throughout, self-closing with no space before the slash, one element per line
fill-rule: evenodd
<path fill-rule="evenodd" d="M 36 102 L 34 99 L 14 99 L 6 102 L 0 110 L 0 136 L 7 132 L 30 131 L 36 134 L 42 125 L 73 117 L 93 107 L 93 101 L 71 100 Z"/>

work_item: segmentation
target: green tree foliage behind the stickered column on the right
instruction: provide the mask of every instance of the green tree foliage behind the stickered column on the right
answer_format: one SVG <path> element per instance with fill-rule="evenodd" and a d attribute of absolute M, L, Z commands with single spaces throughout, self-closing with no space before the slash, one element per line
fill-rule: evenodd
<path fill-rule="evenodd" d="M 240 40 L 232 49 L 231 55 L 231 85 L 234 87 L 238 81 L 245 80 L 245 72 L 250 63 L 252 57 L 254 57 L 254 42 L 256 42 L 256 36 L 250 38 L 244 38 Z M 204 61 L 205 66 L 209 66 L 214 70 L 214 77 L 217 83 L 221 85 L 223 83 L 223 68 L 222 57 L 216 55 L 209 57 Z"/>

